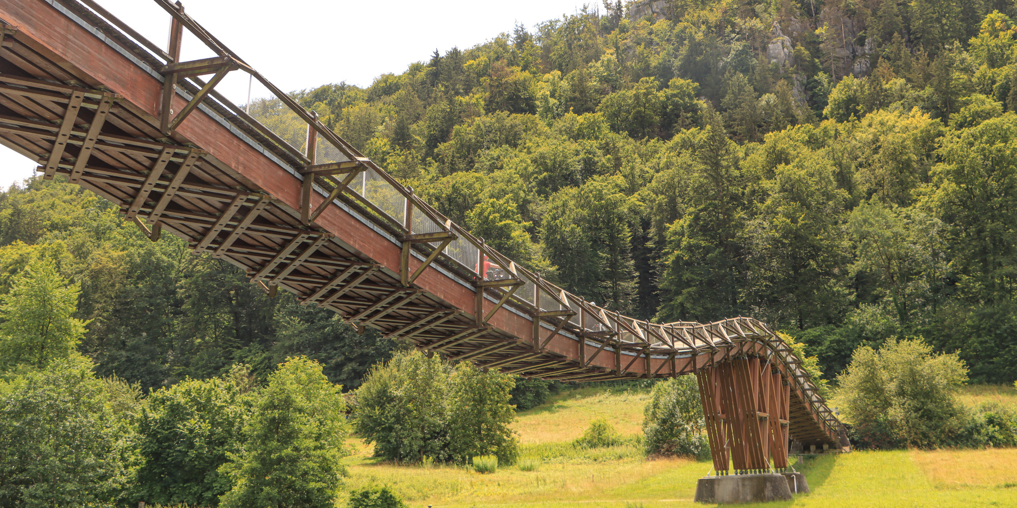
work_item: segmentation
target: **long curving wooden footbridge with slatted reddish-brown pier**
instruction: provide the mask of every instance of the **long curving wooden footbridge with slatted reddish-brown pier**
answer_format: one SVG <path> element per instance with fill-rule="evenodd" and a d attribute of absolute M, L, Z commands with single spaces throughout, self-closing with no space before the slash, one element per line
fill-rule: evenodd
<path fill-rule="evenodd" d="M 169 48 L 92 0 L 0 0 L 0 142 L 119 204 L 153 241 L 175 235 L 272 295 L 450 360 L 562 381 L 696 373 L 719 473 L 782 469 L 788 439 L 845 444 L 765 324 L 651 323 L 562 291 L 420 200 L 179 4 L 153 1 Z M 216 56 L 178 61 L 184 30 Z M 274 108 L 218 93 L 233 71 Z"/>

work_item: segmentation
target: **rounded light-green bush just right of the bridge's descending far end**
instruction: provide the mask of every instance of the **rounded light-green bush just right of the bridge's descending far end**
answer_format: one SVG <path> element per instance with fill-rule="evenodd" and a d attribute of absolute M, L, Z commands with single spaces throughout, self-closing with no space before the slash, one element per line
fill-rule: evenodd
<path fill-rule="evenodd" d="M 967 380 L 956 354 L 937 355 L 920 338 L 855 350 L 837 378 L 844 411 L 861 447 L 935 447 L 965 426 L 955 393 Z"/>

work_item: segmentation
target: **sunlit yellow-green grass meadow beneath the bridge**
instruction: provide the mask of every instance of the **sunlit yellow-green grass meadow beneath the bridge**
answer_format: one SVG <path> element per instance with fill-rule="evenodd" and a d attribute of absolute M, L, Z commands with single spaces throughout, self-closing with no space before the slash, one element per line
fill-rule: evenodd
<path fill-rule="evenodd" d="M 696 480 L 709 462 L 648 460 L 637 444 L 648 390 L 583 388 L 521 412 L 521 462 L 536 470 L 499 467 L 479 474 L 463 467 L 394 465 L 370 457 L 351 440 L 351 489 L 388 486 L 412 508 L 651 508 L 704 506 L 693 502 Z M 968 386 L 965 403 L 997 400 L 1017 406 L 1017 390 Z M 633 443 L 577 450 L 570 442 L 589 422 L 606 418 Z M 812 494 L 765 506 L 802 507 L 1017 507 L 1017 449 L 901 450 L 822 456 L 797 464 Z M 751 505 L 750 505 L 751 506 Z"/>

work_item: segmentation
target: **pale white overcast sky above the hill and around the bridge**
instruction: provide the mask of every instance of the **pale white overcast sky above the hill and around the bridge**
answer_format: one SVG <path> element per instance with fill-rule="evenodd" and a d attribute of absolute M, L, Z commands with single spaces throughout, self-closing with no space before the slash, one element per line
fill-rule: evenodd
<path fill-rule="evenodd" d="M 97 0 L 164 49 L 170 16 L 149 0 Z M 42 3 L 42 2 L 40 2 Z M 346 81 L 371 84 L 386 72 L 426 61 L 438 49 L 483 43 L 517 21 L 528 28 L 564 13 L 582 0 L 512 2 L 431 0 L 190 0 L 184 9 L 223 44 L 280 88 L 290 91 Z M 185 38 L 182 60 L 213 56 Z M 259 94 L 255 81 L 253 96 Z M 231 72 L 217 87 L 237 104 L 247 101 L 248 79 Z M 262 92 L 263 94 L 263 92 Z M 35 163 L 0 145 L 0 186 L 32 176 Z"/>

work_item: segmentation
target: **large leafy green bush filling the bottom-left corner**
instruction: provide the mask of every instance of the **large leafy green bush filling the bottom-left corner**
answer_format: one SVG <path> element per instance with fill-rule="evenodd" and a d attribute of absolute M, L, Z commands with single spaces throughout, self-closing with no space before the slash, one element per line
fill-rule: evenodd
<path fill-rule="evenodd" d="M 117 500 L 132 436 L 107 399 L 103 380 L 80 357 L 0 381 L 0 506 Z"/>

